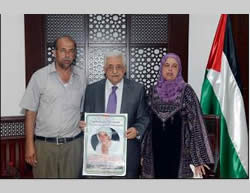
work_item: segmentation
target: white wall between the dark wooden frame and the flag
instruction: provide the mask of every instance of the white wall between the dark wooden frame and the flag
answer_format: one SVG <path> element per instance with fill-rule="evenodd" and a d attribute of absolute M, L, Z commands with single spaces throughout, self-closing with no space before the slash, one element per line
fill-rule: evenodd
<path fill-rule="evenodd" d="M 188 82 L 199 99 L 219 19 L 220 14 L 189 15 Z"/>

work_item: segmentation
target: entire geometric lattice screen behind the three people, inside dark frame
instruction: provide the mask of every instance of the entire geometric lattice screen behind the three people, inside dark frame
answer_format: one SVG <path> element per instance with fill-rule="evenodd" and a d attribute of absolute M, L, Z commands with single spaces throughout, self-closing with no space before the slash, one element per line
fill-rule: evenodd
<path fill-rule="evenodd" d="M 53 42 L 63 34 L 77 42 L 76 65 L 89 83 L 104 78 L 105 52 L 117 49 L 127 57 L 127 77 L 146 91 L 158 78 L 161 57 L 167 52 L 168 15 L 53 14 L 47 15 L 47 61 L 53 61 Z"/>

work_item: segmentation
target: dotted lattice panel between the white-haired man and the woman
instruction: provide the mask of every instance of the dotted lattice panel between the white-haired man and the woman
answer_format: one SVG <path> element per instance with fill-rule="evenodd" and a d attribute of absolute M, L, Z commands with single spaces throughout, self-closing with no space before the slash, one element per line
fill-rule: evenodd
<path fill-rule="evenodd" d="M 130 48 L 129 77 L 142 83 L 148 92 L 158 80 L 160 61 L 166 53 L 165 47 Z"/>

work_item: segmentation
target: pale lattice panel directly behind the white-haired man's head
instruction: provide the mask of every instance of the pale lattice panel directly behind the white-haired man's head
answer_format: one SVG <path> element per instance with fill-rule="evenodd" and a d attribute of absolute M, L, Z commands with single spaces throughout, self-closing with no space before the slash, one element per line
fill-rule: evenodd
<path fill-rule="evenodd" d="M 104 55 L 112 50 L 118 50 L 126 56 L 126 47 L 89 47 L 89 60 L 87 65 L 89 83 L 104 78 Z"/>

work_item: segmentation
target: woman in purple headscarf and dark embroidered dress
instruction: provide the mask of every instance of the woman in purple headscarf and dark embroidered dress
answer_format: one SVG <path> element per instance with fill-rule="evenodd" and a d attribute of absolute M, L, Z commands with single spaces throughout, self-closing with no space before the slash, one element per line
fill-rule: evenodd
<path fill-rule="evenodd" d="M 149 94 L 151 127 L 142 143 L 142 177 L 204 175 L 214 162 L 199 100 L 182 77 L 181 60 L 163 56 L 160 77 Z"/>

